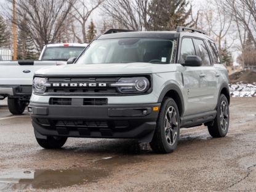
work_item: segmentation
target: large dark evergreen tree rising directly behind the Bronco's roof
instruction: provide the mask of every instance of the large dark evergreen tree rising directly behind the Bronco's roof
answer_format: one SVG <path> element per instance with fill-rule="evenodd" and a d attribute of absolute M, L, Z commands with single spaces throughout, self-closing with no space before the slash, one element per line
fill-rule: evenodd
<path fill-rule="evenodd" d="M 177 26 L 188 26 L 186 23 L 191 14 L 191 7 L 186 0 L 153 0 L 149 6 L 148 15 L 152 20 L 152 30 L 173 31 Z"/>

